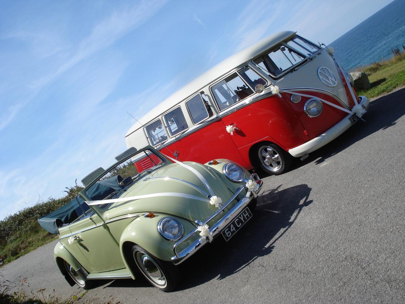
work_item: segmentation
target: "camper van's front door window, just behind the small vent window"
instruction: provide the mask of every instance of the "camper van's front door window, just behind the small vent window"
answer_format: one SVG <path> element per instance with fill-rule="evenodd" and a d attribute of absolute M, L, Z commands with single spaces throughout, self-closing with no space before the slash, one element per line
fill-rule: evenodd
<path fill-rule="evenodd" d="M 254 93 L 237 73 L 232 73 L 224 80 L 214 84 L 211 92 L 220 111 Z"/>

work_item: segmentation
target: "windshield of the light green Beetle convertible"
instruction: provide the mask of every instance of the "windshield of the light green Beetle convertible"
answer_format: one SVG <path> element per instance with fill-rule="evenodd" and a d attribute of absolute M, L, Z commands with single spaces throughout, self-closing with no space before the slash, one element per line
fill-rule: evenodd
<path fill-rule="evenodd" d="M 104 175 L 90 184 L 85 193 L 92 201 L 119 197 L 137 179 L 164 163 L 164 159 L 152 150 L 137 152 L 104 171 Z M 98 208 L 107 206 L 108 204 L 102 204 Z"/>

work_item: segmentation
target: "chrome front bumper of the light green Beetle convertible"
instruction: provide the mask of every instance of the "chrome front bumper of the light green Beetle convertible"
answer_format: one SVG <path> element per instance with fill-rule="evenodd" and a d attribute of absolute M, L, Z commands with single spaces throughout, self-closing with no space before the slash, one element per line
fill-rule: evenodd
<path fill-rule="evenodd" d="M 253 180 L 256 188 L 255 189 L 248 189 L 246 195 L 231 209 L 227 214 L 225 214 L 215 225 L 212 225 L 212 227 L 209 227 L 209 232 L 210 235 L 215 238 L 222 229 L 226 227 L 228 223 L 230 223 L 238 214 L 245 208 L 252 199 L 257 197 L 257 194 L 260 192 L 260 189 L 262 188 L 262 181 L 259 179 L 258 175 L 256 173 L 253 173 L 252 176 L 250 176 L 249 180 L 243 180 L 245 184 L 248 184 L 249 181 Z M 228 202 L 226 202 L 220 209 L 217 210 L 214 214 L 212 214 L 207 220 L 204 222 L 197 220 L 196 223 L 198 225 L 205 225 L 209 221 L 211 221 L 215 216 L 223 212 L 223 210 L 229 206 L 234 199 L 236 199 L 239 194 L 245 189 L 245 187 L 240 187 L 239 190 L 229 199 Z M 199 238 L 198 240 L 194 241 L 192 244 L 190 244 L 187 248 L 182 250 L 180 253 L 177 253 L 177 247 L 188 240 L 190 237 L 195 235 L 195 233 L 198 233 L 197 228 L 190 231 L 185 237 L 183 237 L 181 240 L 176 242 L 176 244 L 173 246 L 173 252 L 175 254 L 174 257 L 171 258 L 171 261 L 175 264 L 178 265 L 181 262 L 185 261 L 185 259 L 188 259 L 190 256 L 192 256 L 198 249 L 203 247 L 207 242 L 208 238 Z"/>

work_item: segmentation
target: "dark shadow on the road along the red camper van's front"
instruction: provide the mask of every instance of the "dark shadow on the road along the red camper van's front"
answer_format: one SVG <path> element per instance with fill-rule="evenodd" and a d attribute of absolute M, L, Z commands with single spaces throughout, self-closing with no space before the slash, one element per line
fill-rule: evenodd
<path fill-rule="evenodd" d="M 290 171 L 314 161 L 317 165 L 321 164 L 326 161 L 326 159 L 352 146 L 353 143 L 356 143 L 377 131 L 386 130 L 391 126 L 394 126 L 396 120 L 405 114 L 405 103 L 403 102 L 404 94 L 405 88 L 382 96 L 371 102 L 369 110 L 363 116 L 365 121 L 360 120 L 356 122 L 356 124 L 338 138 L 310 153 L 308 158 L 304 161 L 296 159 L 291 166 Z"/>

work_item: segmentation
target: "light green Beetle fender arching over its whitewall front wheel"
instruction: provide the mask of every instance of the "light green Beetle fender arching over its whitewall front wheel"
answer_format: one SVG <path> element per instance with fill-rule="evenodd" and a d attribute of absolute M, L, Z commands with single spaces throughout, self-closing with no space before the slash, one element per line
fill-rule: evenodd
<path fill-rule="evenodd" d="M 132 248 L 133 244 L 141 246 L 162 261 L 171 261 L 171 258 L 174 255 L 173 246 L 175 243 L 164 239 L 158 231 L 159 221 L 168 216 L 170 215 L 159 214 L 157 212 L 153 218 L 140 216 L 132 221 L 122 233 L 119 240 L 119 247 L 126 268 L 131 271 L 131 276 L 133 276 L 133 278 L 133 268 L 131 267 L 132 260 L 130 260 L 133 258 L 130 256 L 130 253 L 128 254 L 128 251 Z M 180 221 L 183 225 L 184 233 L 195 229 L 195 227 L 187 220 L 177 218 L 176 216 L 170 217 L 176 218 Z"/>

